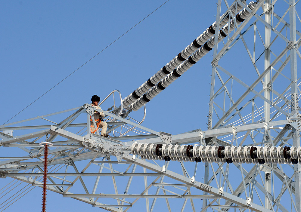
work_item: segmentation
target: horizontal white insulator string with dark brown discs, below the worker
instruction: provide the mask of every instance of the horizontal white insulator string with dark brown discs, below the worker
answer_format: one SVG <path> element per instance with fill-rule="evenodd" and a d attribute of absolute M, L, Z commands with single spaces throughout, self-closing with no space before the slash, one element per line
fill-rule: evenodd
<path fill-rule="evenodd" d="M 197 146 L 133 143 L 132 154 L 142 159 L 222 163 L 301 164 L 298 146 Z"/>

